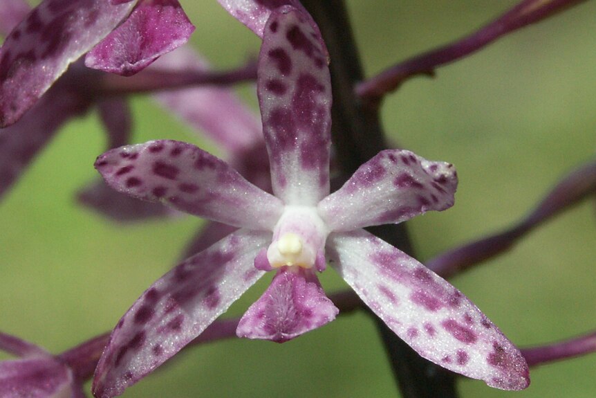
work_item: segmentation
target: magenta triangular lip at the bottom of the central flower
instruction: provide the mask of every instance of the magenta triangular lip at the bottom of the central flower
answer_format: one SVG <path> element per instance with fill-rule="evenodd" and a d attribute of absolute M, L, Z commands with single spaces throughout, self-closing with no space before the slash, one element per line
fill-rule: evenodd
<path fill-rule="evenodd" d="M 236 334 L 283 343 L 325 325 L 338 312 L 312 269 L 283 267 L 246 311 Z"/>

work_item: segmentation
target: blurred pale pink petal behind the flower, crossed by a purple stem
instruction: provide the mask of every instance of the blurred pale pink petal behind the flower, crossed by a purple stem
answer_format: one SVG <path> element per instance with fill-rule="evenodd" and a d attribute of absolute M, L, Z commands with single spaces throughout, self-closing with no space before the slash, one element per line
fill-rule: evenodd
<path fill-rule="evenodd" d="M 151 69 L 172 72 L 207 71 L 209 67 L 192 48 L 183 46 L 160 57 Z M 245 150 L 257 141 L 263 141 L 259 118 L 230 89 L 194 87 L 165 91 L 153 98 L 195 129 L 205 132 L 205 135 L 230 153 Z"/>

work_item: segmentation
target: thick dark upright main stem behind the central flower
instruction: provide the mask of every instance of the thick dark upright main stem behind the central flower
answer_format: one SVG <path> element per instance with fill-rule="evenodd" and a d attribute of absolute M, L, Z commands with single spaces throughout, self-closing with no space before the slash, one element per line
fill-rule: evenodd
<path fill-rule="evenodd" d="M 355 96 L 362 68 L 342 0 L 303 0 L 321 29 L 330 55 L 333 84 L 333 142 L 339 168 L 349 176 L 365 161 L 386 148 L 378 111 Z M 371 229 L 387 242 L 412 254 L 404 224 Z M 371 313 L 372 314 L 372 313 Z M 387 325 L 374 316 L 389 354 L 395 380 L 404 398 L 456 397 L 451 373 L 414 352 Z"/>

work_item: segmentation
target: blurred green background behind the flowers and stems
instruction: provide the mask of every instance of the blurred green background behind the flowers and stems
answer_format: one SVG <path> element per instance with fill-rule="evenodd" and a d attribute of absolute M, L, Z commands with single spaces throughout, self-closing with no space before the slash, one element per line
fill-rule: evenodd
<path fill-rule="evenodd" d="M 192 44 L 215 66 L 255 55 L 259 40 L 214 0 L 181 1 Z M 516 1 L 348 1 L 366 75 L 456 39 Z M 525 28 L 416 78 L 384 102 L 387 132 L 427 159 L 454 163 L 456 206 L 409 222 L 418 258 L 505 228 L 596 148 L 596 3 Z M 333 60 L 332 60 L 333 62 Z M 254 89 L 240 89 L 257 110 Z M 132 101 L 133 142 L 201 143 L 148 98 Z M 0 203 L 0 329 L 61 352 L 111 329 L 178 259 L 201 220 L 112 224 L 75 204 L 104 150 L 97 115 L 69 123 Z M 595 203 L 551 221 L 452 282 L 512 341 L 534 345 L 596 328 Z M 333 271 L 327 291 L 342 289 Z M 227 315 L 239 316 L 261 281 Z M 8 356 L 0 356 L 6 359 Z M 462 380 L 463 397 L 594 397 L 596 354 L 532 370 L 523 392 Z M 234 340 L 194 347 L 124 397 L 395 397 L 364 314 L 340 316 L 283 345 Z"/>

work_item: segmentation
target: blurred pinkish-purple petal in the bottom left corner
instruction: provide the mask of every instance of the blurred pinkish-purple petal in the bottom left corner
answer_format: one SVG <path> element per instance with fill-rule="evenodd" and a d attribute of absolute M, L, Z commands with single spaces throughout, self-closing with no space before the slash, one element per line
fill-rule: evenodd
<path fill-rule="evenodd" d="M 0 362 L 0 397 L 72 397 L 73 374 L 51 356 Z"/>

